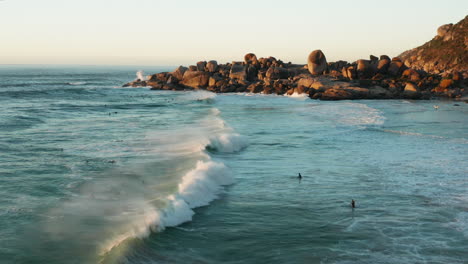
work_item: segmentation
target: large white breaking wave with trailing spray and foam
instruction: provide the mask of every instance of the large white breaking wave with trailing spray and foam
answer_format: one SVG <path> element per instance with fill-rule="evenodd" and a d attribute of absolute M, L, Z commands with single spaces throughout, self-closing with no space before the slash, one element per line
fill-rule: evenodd
<path fill-rule="evenodd" d="M 235 153 L 248 145 L 226 126 L 218 109 L 207 112 L 190 129 L 154 131 L 134 143 L 132 153 L 144 162 L 83 184 L 71 200 L 46 213 L 47 236 L 68 241 L 62 251 L 84 248 L 98 258 L 85 261 L 106 262 L 129 248 L 132 238 L 191 221 L 194 208 L 208 205 L 233 183 L 216 153 Z"/>

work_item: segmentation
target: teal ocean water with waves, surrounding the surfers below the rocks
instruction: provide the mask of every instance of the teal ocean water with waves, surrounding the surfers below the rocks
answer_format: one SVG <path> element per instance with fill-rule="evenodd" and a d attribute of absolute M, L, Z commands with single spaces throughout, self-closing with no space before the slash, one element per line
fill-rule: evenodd
<path fill-rule="evenodd" d="M 120 88 L 140 69 L 0 67 L 0 263 L 468 262 L 467 104 Z"/>

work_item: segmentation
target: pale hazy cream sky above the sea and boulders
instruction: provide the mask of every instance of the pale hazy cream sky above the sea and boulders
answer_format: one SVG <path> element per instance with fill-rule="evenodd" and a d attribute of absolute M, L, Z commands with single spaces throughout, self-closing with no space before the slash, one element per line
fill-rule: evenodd
<path fill-rule="evenodd" d="M 0 0 L 0 64 L 177 65 L 245 53 L 305 63 L 396 56 L 467 0 Z"/>

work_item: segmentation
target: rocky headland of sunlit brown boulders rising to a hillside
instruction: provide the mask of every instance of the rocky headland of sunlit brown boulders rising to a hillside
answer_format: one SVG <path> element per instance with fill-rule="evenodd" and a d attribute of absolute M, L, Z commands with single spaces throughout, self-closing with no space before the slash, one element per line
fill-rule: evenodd
<path fill-rule="evenodd" d="M 454 31 L 466 30 L 466 21 L 467 18 L 455 26 L 441 26 L 438 35 L 428 43 L 450 47 L 453 41 L 466 38 Z M 446 34 L 450 34 L 450 38 Z M 440 48 L 440 58 L 432 52 L 430 59 L 425 59 L 423 55 L 424 50 L 428 50 L 428 43 L 403 53 L 405 60 L 370 55 L 369 59 L 353 63 L 329 63 L 321 50 L 311 52 L 306 65 L 285 63 L 274 57 L 257 59 L 255 54 L 248 53 L 243 61 L 226 64 L 218 64 L 214 60 L 200 61 L 189 67 L 179 66 L 172 72 L 153 74 L 146 80 L 137 79 L 124 87 L 174 91 L 201 89 L 215 93 L 307 94 L 319 100 L 451 98 L 467 101 L 467 43 L 461 48 L 464 51 L 460 52 L 458 46 L 452 48 L 459 62 L 445 63 L 445 68 L 441 68 L 438 61 L 447 57 L 444 54 L 447 50 Z M 409 56 L 415 52 L 419 57 Z M 421 62 L 425 59 L 424 64 L 418 63 L 418 58 L 422 58 Z M 423 67 L 428 65 L 430 67 Z"/>

